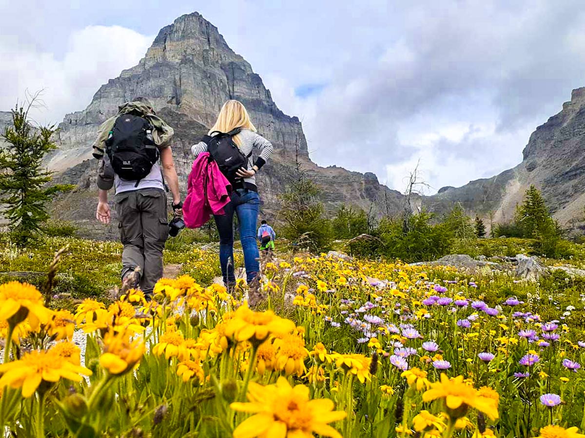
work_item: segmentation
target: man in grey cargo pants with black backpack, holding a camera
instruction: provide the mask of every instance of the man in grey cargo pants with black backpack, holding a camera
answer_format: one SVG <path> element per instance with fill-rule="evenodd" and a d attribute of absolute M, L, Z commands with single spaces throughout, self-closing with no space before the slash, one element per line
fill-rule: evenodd
<path fill-rule="evenodd" d="M 139 268 L 131 286 L 140 286 L 147 300 L 163 276 L 163 249 L 169 231 L 165 189 L 173 196 L 174 213 L 180 214 L 182 207 L 170 147 L 173 133 L 173 128 L 156 116 L 148 99 L 135 98 L 102 124 L 93 146 L 94 157 L 101 160 L 96 217 L 101 223 L 110 223 L 108 190 L 115 186 L 124 246 L 122 283 Z"/>

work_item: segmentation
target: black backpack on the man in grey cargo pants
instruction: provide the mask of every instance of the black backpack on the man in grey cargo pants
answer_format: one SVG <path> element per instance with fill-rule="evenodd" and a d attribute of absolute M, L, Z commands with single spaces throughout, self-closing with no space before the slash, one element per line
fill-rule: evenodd
<path fill-rule="evenodd" d="M 152 131 L 152 124 L 144 117 L 122 114 L 106 140 L 106 154 L 114 172 L 122 179 L 136 181 L 136 186 L 159 159 Z"/>

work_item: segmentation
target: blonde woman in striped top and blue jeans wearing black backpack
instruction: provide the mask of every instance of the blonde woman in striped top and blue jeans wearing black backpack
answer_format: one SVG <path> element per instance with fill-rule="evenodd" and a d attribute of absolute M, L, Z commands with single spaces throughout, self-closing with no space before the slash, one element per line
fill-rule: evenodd
<path fill-rule="evenodd" d="M 259 150 L 256 161 L 252 158 L 254 148 Z M 256 128 L 250 120 L 246 107 L 238 100 L 228 100 L 224 103 L 209 134 L 191 147 L 191 152 L 195 157 L 203 152 L 209 152 L 232 186 L 230 202 L 224 208 L 225 214 L 214 215 L 219 232 L 219 263 L 223 283 L 227 287 L 233 287 L 236 283 L 233 270 L 234 214 L 238 216 L 248 284 L 256 279 L 260 270 L 259 251 L 256 244 L 260 196 L 256 185 L 256 173 L 266 164 L 272 151 L 272 144 L 266 138 L 256 134 Z M 233 162 L 242 165 L 236 168 L 230 167 L 228 164 Z"/>

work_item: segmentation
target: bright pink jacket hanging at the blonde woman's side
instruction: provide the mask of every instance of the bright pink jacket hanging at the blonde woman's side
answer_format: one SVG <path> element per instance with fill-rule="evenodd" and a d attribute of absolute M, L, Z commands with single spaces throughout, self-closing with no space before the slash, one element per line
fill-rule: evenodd
<path fill-rule="evenodd" d="M 183 220 L 187 228 L 199 228 L 212 214 L 223 214 L 230 201 L 232 186 L 209 152 L 199 154 L 187 182 L 187 197 L 183 203 Z"/>

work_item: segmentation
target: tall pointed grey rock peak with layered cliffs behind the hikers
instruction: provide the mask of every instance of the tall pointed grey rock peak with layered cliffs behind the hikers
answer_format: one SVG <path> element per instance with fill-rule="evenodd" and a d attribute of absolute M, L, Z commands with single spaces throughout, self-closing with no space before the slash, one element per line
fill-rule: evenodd
<path fill-rule="evenodd" d="M 322 200 L 332 212 L 342 203 L 374 213 L 399 211 L 400 193 L 381 186 L 371 173 L 362 175 L 342 168 L 320 168 L 308 156 L 307 140 L 297 117 L 278 109 L 270 91 L 242 56 L 234 53 L 218 29 L 198 13 L 184 15 L 163 27 L 144 58 L 95 93 L 83 111 L 67 114 L 59 125 L 60 149 L 49 166 L 60 179 L 78 189 L 54 204 L 58 217 L 77 221 L 91 237 L 104 235 L 95 227 L 95 163 L 91 144 L 99 124 L 136 96 L 152 100 L 158 113 L 175 128 L 174 156 L 183 193 L 192 157 L 190 146 L 206 133 L 228 99 L 244 103 L 259 133 L 275 151 L 259 173 L 263 214 L 277 217 L 278 195 L 284 192 L 295 160 L 323 189 Z M 109 231 L 113 235 L 113 230 Z"/>

